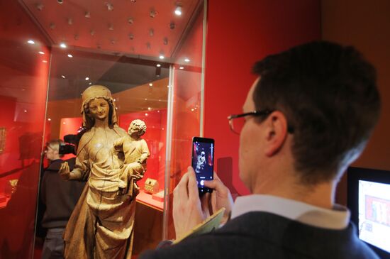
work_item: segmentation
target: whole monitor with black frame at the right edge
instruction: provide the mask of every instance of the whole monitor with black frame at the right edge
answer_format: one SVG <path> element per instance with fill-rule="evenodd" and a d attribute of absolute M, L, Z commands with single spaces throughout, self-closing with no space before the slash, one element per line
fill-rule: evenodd
<path fill-rule="evenodd" d="M 390 171 L 349 167 L 347 204 L 357 236 L 390 258 Z"/>

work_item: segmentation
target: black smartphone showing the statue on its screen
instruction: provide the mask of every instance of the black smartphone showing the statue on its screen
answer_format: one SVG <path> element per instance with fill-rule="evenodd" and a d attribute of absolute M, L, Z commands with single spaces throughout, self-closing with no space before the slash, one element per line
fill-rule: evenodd
<path fill-rule="evenodd" d="M 213 180 L 214 140 L 212 138 L 192 138 L 192 167 L 198 182 L 199 195 L 213 192 L 213 189 L 204 187 L 204 181 Z"/>

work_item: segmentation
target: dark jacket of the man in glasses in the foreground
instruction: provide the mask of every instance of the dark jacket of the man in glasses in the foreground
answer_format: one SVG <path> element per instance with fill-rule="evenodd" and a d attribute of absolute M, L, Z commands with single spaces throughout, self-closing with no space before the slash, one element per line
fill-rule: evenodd
<path fill-rule="evenodd" d="M 330 230 L 267 212 L 250 212 L 218 230 L 147 251 L 147 258 L 378 258 L 357 238 L 355 226 Z M 379 259 L 379 258 L 378 258 Z"/>

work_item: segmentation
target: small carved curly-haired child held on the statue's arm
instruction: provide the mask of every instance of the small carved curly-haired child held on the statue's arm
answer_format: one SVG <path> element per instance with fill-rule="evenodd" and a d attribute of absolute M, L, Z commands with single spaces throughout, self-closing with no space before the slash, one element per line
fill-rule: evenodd
<path fill-rule="evenodd" d="M 136 182 L 143 178 L 146 171 L 146 160 L 150 156 L 147 143 L 141 138 L 145 132 L 145 122 L 136 119 L 131 121 L 128 135 L 118 138 L 113 144 L 116 151 L 123 152 L 125 155 L 118 184 L 120 194 L 133 194 L 135 197 L 139 192 L 140 188 Z"/>

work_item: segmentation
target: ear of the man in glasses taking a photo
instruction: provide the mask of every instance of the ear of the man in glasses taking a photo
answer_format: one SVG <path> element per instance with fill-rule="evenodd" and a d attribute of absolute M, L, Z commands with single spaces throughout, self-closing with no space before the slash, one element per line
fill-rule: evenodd
<path fill-rule="evenodd" d="M 287 136 L 287 119 L 281 111 L 274 111 L 264 121 L 266 133 L 265 155 L 276 154 L 284 144 Z"/>

